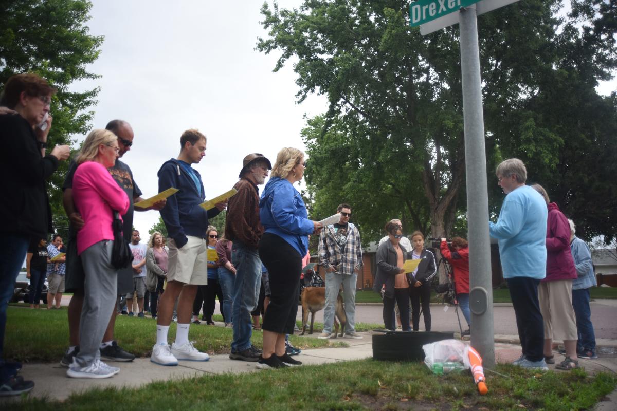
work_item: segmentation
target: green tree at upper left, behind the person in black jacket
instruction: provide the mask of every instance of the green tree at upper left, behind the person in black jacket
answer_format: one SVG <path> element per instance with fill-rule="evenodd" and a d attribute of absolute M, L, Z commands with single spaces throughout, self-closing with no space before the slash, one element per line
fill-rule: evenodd
<path fill-rule="evenodd" d="M 99 56 L 103 38 L 89 35 L 86 22 L 91 7 L 87 0 L 0 0 L 0 87 L 10 76 L 24 72 L 37 73 L 56 87 L 50 149 L 72 144 L 72 135 L 91 128 L 89 108 L 96 104 L 99 89 L 69 90 L 75 81 L 97 78 L 87 65 Z M 67 167 L 62 161 L 48 185 L 57 226 L 67 225 L 60 190 Z"/>

